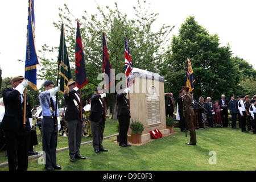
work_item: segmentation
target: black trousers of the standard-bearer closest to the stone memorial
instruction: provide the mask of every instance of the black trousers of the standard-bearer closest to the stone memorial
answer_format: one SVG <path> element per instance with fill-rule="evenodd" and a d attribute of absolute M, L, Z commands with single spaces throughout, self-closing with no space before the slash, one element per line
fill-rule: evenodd
<path fill-rule="evenodd" d="M 119 115 L 118 116 L 119 122 L 119 144 L 126 144 L 127 143 L 127 133 L 129 130 L 130 125 L 130 117 L 129 115 Z"/>

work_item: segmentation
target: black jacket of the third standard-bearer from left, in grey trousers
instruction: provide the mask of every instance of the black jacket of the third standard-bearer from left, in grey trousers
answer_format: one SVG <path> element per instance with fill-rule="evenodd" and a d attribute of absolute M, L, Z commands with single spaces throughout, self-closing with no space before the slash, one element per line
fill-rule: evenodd
<path fill-rule="evenodd" d="M 64 94 L 64 99 L 67 105 L 67 110 L 65 113 L 65 120 L 80 120 L 80 102 L 77 96 L 75 95 L 76 91 L 75 90 L 69 90 L 69 94 L 65 92 Z M 77 94 L 79 96 L 79 94 Z M 77 102 L 77 106 L 75 105 L 75 100 Z"/>

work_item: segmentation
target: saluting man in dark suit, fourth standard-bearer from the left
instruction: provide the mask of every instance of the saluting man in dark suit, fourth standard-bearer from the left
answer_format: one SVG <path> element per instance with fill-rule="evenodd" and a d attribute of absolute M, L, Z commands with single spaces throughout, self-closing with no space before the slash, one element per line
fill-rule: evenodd
<path fill-rule="evenodd" d="M 106 93 L 103 93 L 101 88 L 95 89 L 95 94 L 91 97 L 91 109 L 89 119 L 92 127 L 93 148 L 96 154 L 100 154 L 100 151 L 107 152 L 102 146 L 103 133 L 105 129 L 105 115 L 104 115 L 104 97 Z"/>

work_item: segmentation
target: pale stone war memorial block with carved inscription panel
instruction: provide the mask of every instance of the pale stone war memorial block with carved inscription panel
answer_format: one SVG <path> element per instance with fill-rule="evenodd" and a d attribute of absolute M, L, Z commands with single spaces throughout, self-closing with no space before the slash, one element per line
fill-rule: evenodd
<path fill-rule="evenodd" d="M 166 110 L 164 104 L 164 78 L 158 73 L 133 68 L 134 84 L 130 86 L 130 112 L 132 121 L 139 121 L 144 125 L 141 142 L 151 139 L 150 131 L 160 130 L 168 135 L 166 128 Z M 131 141 L 131 129 L 128 131 Z"/>

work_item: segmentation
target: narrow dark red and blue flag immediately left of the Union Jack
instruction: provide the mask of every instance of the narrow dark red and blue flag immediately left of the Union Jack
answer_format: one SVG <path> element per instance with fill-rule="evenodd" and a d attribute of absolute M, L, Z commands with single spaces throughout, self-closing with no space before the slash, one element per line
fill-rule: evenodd
<path fill-rule="evenodd" d="M 108 80 L 106 81 L 108 85 L 106 85 L 106 89 L 109 89 L 110 85 L 114 83 L 113 80 L 113 72 L 112 72 L 112 67 L 109 61 L 109 53 L 108 53 L 108 48 L 106 46 L 106 39 L 105 39 L 105 34 L 102 31 L 102 48 L 103 48 L 103 59 L 102 59 L 102 68 L 106 75 L 108 75 Z"/>

